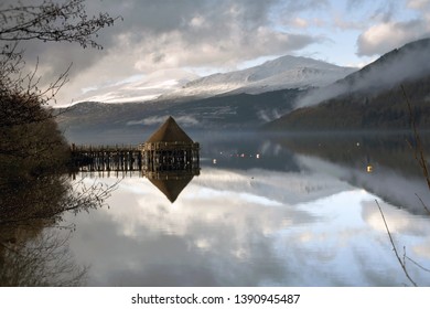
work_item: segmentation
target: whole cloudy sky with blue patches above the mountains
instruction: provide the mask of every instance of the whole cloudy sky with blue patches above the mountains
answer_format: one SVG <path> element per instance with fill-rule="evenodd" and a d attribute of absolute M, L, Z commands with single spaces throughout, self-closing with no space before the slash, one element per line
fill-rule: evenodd
<path fill-rule="evenodd" d="M 43 83 L 73 64 L 57 95 L 62 105 L 162 70 L 204 76 L 282 55 L 361 67 L 430 36 L 430 0 L 93 0 L 86 6 L 89 14 L 122 18 L 99 32 L 103 50 L 24 44 L 26 64 L 39 61 Z"/>

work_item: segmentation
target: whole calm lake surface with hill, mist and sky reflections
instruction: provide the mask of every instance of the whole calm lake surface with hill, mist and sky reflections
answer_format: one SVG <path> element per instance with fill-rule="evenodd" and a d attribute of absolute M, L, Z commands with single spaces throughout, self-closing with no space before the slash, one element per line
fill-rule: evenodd
<path fill-rule="evenodd" d="M 377 203 L 400 257 L 430 268 L 430 194 L 405 136 L 192 138 L 200 175 L 173 203 L 135 172 L 106 206 L 64 216 L 86 285 L 409 286 Z"/>

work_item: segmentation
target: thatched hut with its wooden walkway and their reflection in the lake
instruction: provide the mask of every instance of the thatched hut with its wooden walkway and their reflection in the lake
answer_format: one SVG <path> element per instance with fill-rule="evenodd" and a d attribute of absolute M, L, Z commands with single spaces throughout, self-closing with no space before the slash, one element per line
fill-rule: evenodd
<path fill-rule="evenodd" d="M 137 147 L 72 146 L 75 170 L 117 177 L 139 171 L 173 203 L 194 175 L 200 174 L 200 145 L 172 117 Z"/>

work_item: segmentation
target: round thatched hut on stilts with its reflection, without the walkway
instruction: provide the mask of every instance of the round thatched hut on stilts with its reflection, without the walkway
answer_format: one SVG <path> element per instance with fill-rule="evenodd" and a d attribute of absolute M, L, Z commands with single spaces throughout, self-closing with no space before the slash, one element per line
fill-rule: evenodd
<path fill-rule="evenodd" d="M 142 145 L 143 174 L 173 203 L 193 177 L 200 174 L 198 149 L 198 142 L 169 117 Z"/>

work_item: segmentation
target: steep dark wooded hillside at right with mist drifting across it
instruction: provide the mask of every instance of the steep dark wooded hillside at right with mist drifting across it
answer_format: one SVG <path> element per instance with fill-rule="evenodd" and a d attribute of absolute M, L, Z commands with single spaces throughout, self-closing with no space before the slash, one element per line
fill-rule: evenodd
<path fill-rule="evenodd" d="M 410 128 L 411 116 L 421 129 L 430 129 L 428 55 L 430 39 L 393 50 L 326 88 L 305 94 L 299 98 L 304 106 L 267 124 L 265 129 L 398 130 Z M 407 100 L 412 105 L 412 115 Z"/>

